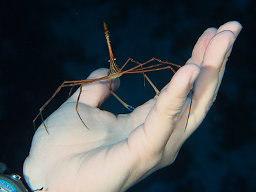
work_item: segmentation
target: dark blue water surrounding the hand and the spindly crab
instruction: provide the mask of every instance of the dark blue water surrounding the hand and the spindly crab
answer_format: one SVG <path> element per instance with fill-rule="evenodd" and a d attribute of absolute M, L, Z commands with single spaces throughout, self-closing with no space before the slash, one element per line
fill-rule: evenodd
<path fill-rule="evenodd" d="M 129 191 L 256 191 L 255 1 L 6 1 L 0 26 L 0 162 L 20 168 L 32 120 L 64 80 L 109 68 L 102 23 L 118 66 L 128 57 L 183 65 L 203 30 L 237 20 L 243 26 L 217 101 L 181 148 L 176 162 Z M 150 73 L 162 88 L 171 71 Z M 154 97 L 141 75 L 124 75 L 117 94 L 131 106 Z M 44 115 L 68 95 L 63 90 Z M 115 98 L 102 106 L 129 113 Z M 37 122 L 39 124 L 40 122 Z"/>

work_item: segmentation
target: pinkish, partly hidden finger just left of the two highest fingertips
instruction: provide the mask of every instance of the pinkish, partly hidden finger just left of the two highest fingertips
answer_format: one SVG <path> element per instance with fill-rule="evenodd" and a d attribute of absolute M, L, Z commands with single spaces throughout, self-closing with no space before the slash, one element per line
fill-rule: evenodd
<path fill-rule="evenodd" d="M 198 66 L 201 65 L 201 62 L 203 61 L 203 54 L 205 52 L 206 47 L 209 44 L 210 39 L 216 34 L 217 28 L 208 28 L 203 32 L 201 37 L 196 42 L 196 45 L 193 48 L 192 56 L 186 64 L 196 64 Z"/>

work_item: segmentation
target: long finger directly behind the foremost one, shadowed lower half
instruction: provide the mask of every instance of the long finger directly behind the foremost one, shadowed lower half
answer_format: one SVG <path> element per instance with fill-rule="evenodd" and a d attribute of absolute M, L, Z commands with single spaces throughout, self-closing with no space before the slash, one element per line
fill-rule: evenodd
<path fill-rule="evenodd" d="M 221 68 L 225 68 L 234 41 L 234 33 L 225 30 L 215 35 L 205 50 L 201 74 L 194 82 L 192 113 L 190 114 L 190 122 L 194 120 L 192 122 L 194 127 L 201 123 L 215 100 L 218 84 L 223 76 Z"/>

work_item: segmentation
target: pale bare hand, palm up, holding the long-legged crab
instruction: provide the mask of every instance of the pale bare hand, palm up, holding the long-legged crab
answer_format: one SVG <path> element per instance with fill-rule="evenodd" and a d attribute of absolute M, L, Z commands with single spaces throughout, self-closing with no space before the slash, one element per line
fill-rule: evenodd
<path fill-rule="evenodd" d="M 132 113 L 116 116 L 100 111 L 98 107 L 111 96 L 109 80 L 84 85 L 78 111 L 90 130 L 75 111 L 76 91 L 46 119 L 49 134 L 41 125 L 33 137 L 24 162 L 24 177 L 30 188 L 44 187 L 42 191 L 48 192 L 126 191 L 172 164 L 216 99 L 241 28 L 237 21 L 230 21 L 219 29 L 205 30 L 192 57 L 161 94 Z M 107 76 L 107 72 L 100 68 L 89 78 Z M 114 79 L 113 90 L 119 84 L 119 79 Z"/>

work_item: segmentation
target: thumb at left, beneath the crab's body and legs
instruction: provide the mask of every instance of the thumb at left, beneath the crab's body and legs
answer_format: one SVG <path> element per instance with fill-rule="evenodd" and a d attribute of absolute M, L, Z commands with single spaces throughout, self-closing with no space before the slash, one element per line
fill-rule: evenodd
<path fill-rule="evenodd" d="M 99 79 L 100 77 L 107 77 L 107 68 L 99 68 L 94 70 L 87 79 Z M 89 105 L 100 107 L 109 97 L 111 92 L 109 90 L 110 80 L 107 78 L 105 80 L 95 81 L 93 83 L 85 83 L 82 86 L 82 93 L 80 95 L 79 102 Z M 117 90 L 120 86 L 120 79 L 113 79 L 111 88 L 113 91 Z M 75 93 L 68 99 L 67 102 L 77 102 L 77 97 L 80 93 L 80 88 L 78 88 Z"/>

